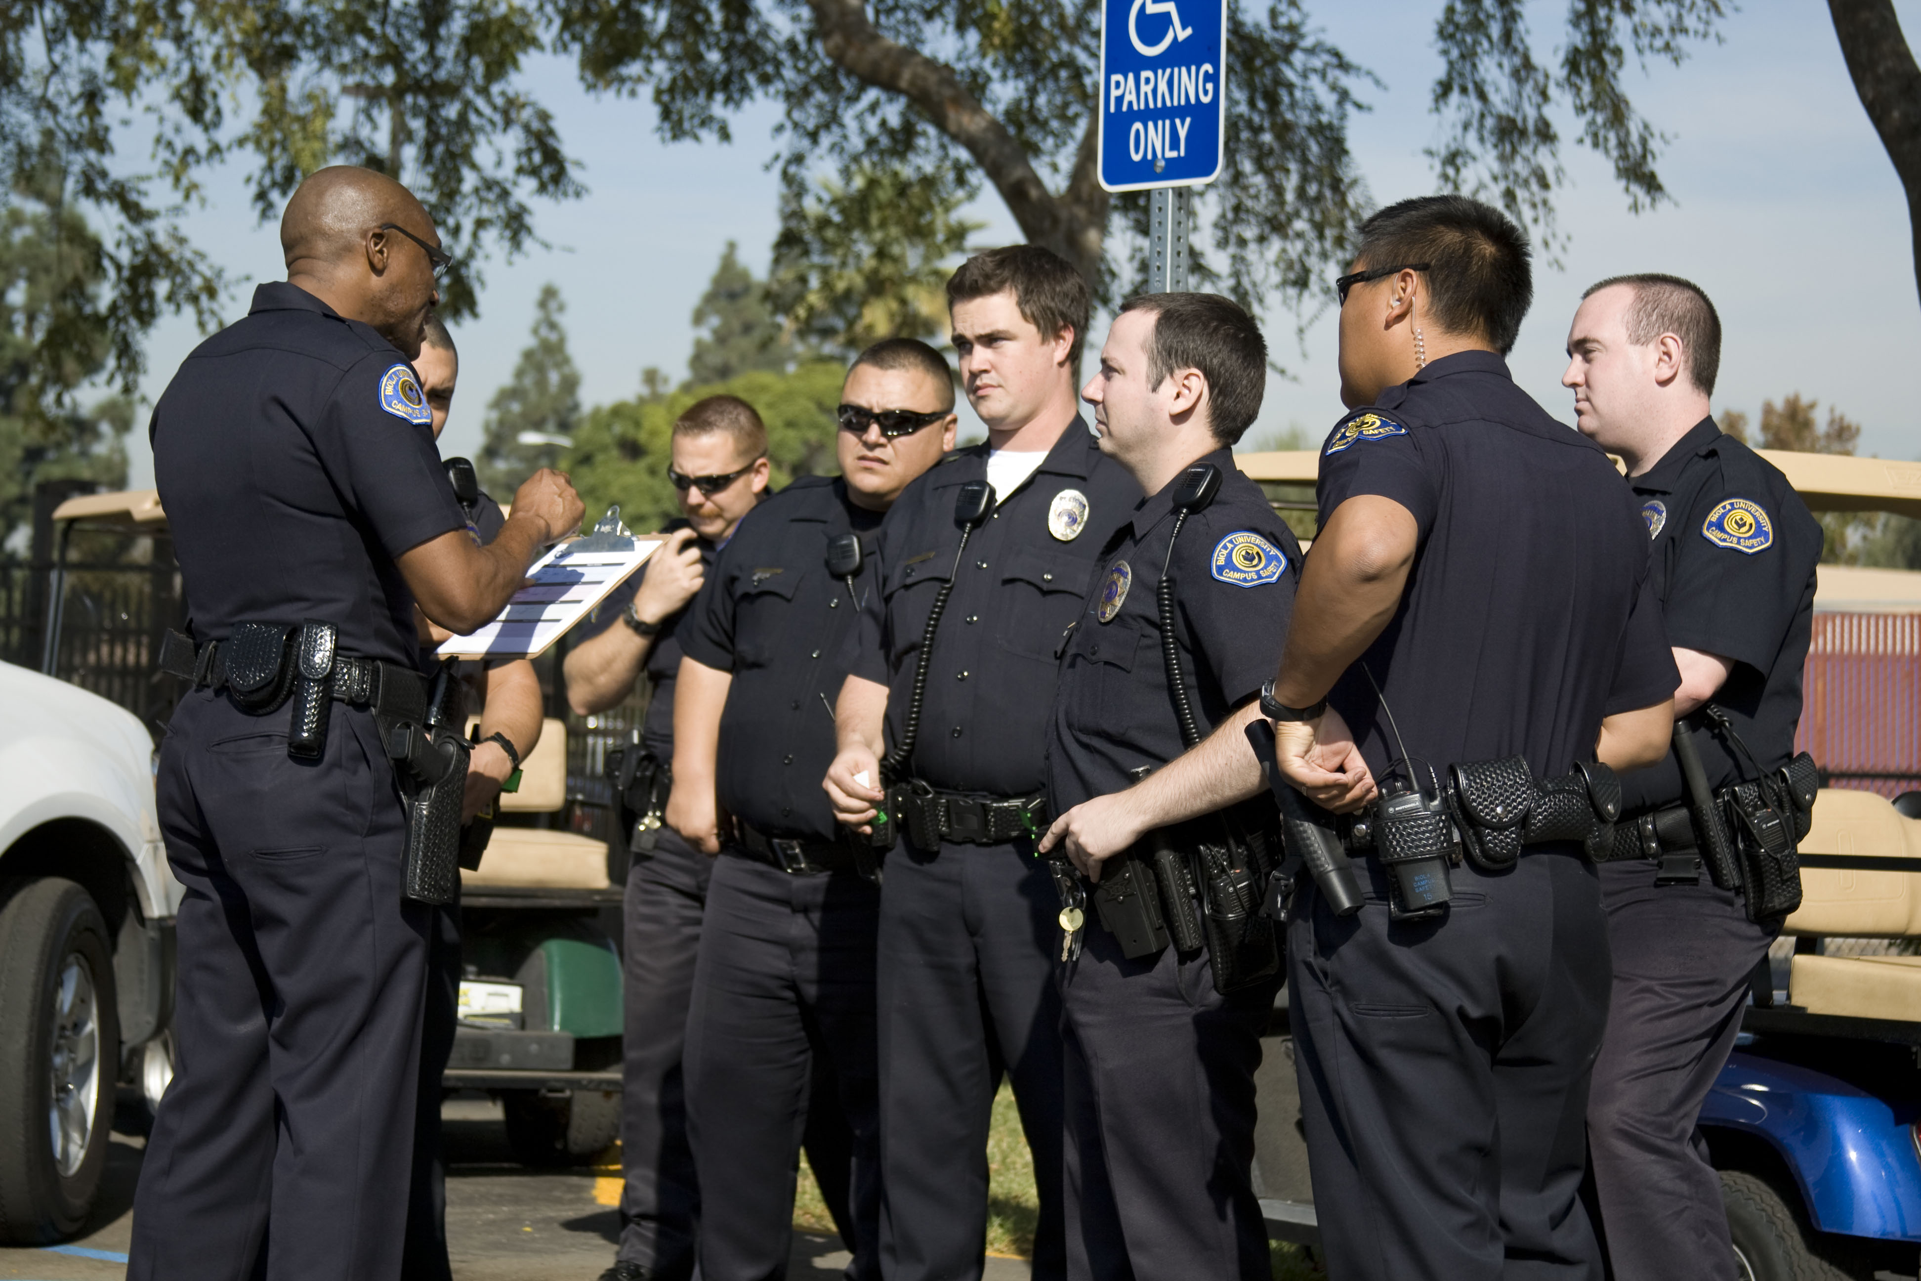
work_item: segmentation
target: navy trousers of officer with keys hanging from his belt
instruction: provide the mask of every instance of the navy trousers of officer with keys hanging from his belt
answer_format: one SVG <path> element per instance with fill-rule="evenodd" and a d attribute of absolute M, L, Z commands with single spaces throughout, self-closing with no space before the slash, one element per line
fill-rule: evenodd
<path fill-rule="evenodd" d="M 1128 960 L 1091 906 L 1085 931 L 1060 985 L 1068 1275 L 1266 1281 L 1254 1070 L 1281 976 L 1224 997 L 1204 951 Z"/>

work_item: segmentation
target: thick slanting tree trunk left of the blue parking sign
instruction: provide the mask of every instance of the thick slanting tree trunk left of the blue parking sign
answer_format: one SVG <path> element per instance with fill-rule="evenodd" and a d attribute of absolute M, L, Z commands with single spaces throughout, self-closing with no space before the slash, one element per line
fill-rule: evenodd
<path fill-rule="evenodd" d="M 928 121 L 968 150 L 1001 192 L 1032 244 L 1074 263 L 1089 284 L 1101 280 L 1108 192 L 1097 175 L 1099 111 L 1089 115 L 1068 186 L 1047 190 L 1020 140 L 966 90 L 953 67 L 884 36 L 863 0 L 807 0 L 820 27 L 820 50 L 838 67 L 876 88 L 901 94 Z"/>

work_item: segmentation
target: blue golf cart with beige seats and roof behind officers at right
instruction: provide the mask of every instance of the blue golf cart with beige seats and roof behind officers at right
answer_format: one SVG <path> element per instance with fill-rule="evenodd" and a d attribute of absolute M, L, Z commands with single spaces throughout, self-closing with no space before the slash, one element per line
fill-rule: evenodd
<path fill-rule="evenodd" d="M 1810 509 L 1921 519 L 1921 463 L 1763 449 Z M 1312 511 L 1318 455 L 1249 453 L 1283 513 Z M 1748 1281 L 1913 1277 L 1921 1266 L 1921 572 L 1823 565 L 1800 743 L 1823 787 L 1804 899 L 1756 970 L 1702 1108 Z M 1792 953 L 1788 953 L 1792 949 Z M 1318 1245 L 1287 993 L 1258 1074 L 1254 1179 L 1268 1231 Z"/>

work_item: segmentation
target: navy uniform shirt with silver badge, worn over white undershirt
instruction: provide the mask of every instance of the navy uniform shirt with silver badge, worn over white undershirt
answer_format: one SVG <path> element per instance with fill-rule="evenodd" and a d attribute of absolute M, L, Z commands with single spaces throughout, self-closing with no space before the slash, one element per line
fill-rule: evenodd
<path fill-rule="evenodd" d="M 889 686 L 889 743 L 912 699 L 934 595 L 955 570 L 955 495 L 987 478 L 987 446 L 957 449 L 901 494 L 880 526 L 886 568 L 863 611 L 853 672 Z M 1047 718 L 1060 645 L 1080 616 L 1087 572 L 1141 497 L 1076 419 L 1039 469 L 966 544 L 941 615 L 909 774 L 945 791 L 1024 797 L 1047 784 Z"/>

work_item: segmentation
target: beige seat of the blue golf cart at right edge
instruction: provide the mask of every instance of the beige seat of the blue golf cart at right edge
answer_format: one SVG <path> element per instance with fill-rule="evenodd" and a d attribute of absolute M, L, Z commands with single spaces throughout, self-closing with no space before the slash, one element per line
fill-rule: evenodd
<path fill-rule="evenodd" d="M 1802 855 L 1890 858 L 1921 866 L 1921 820 L 1886 797 L 1827 787 L 1813 807 Z M 1802 905 L 1783 933 L 1921 937 L 1921 872 L 1802 868 Z M 1921 1022 L 1921 956 L 1813 956 L 1796 953 L 1788 1001 L 1810 1014 Z"/>

